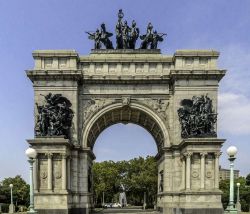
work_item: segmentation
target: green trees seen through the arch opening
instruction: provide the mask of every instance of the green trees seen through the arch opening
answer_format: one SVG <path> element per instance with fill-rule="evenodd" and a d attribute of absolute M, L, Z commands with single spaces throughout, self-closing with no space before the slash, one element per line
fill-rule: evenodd
<path fill-rule="evenodd" d="M 142 205 L 144 192 L 147 204 L 153 206 L 157 194 L 157 163 L 154 157 L 134 158 L 129 161 L 94 163 L 94 194 L 96 204 L 118 201 L 121 184 L 125 187 L 127 202 Z"/>

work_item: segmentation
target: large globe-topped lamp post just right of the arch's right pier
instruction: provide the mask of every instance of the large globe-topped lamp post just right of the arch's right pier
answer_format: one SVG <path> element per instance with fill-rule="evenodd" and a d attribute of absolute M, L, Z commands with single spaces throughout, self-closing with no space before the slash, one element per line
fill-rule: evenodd
<path fill-rule="evenodd" d="M 228 160 L 230 161 L 230 196 L 226 211 L 227 213 L 238 213 L 234 205 L 234 160 L 236 159 L 237 148 L 230 146 L 227 149 L 227 154 L 229 156 Z"/>

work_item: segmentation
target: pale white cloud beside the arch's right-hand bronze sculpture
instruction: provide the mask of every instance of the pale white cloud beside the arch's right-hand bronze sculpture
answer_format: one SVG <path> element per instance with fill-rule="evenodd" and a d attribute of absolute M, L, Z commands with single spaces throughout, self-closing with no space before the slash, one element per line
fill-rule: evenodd
<path fill-rule="evenodd" d="M 219 94 L 219 131 L 250 134 L 250 99 L 242 94 Z"/>

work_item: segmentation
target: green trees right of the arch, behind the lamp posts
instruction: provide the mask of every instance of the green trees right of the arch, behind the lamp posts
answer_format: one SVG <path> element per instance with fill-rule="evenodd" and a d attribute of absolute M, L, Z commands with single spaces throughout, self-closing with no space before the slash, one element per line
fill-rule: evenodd
<path fill-rule="evenodd" d="M 250 176 L 249 176 L 250 177 Z M 236 203 L 237 200 L 237 186 L 236 183 L 240 183 L 240 203 L 241 203 L 241 209 L 242 211 L 248 212 L 249 211 L 249 205 L 250 205 L 250 186 L 247 185 L 247 177 L 240 177 L 235 180 L 234 185 L 234 201 Z M 224 209 L 228 205 L 229 201 L 229 191 L 230 191 L 230 180 L 221 180 L 220 181 L 220 189 L 222 190 L 222 204 Z"/>

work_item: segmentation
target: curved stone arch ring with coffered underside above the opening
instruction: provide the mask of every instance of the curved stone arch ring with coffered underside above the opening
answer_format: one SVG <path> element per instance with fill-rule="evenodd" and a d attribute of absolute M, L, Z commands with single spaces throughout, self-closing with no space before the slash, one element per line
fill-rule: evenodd
<path fill-rule="evenodd" d="M 142 104 L 113 103 L 99 110 L 86 124 L 83 130 L 82 147 L 91 148 L 99 134 L 106 128 L 117 123 L 134 123 L 145 128 L 154 138 L 158 153 L 163 147 L 170 145 L 166 125 L 153 110 Z"/>

